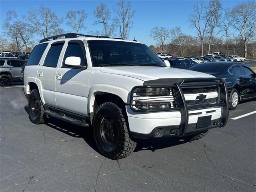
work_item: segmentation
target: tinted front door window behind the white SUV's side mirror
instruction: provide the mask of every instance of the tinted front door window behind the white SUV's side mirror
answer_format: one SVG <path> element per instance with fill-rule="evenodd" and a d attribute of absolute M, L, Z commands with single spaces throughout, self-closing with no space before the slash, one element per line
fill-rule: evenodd
<path fill-rule="evenodd" d="M 80 44 L 78 43 L 68 43 L 68 47 L 66 49 L 64 59 L 63 59 L 63 64 L 66 60 L 67 57 L 80 57 L 81 58 L 81 65 L 85 66 L 85 50 L 84 48 L 81 47 Z"/>

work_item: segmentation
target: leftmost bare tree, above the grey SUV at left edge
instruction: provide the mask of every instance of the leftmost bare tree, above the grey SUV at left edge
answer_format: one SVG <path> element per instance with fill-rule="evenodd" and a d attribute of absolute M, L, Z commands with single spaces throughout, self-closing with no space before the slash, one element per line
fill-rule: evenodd
<path fill-rule="evenodd" d="M 16 31 L 18 32 L 20 39 L 25 46 L 25 51 L 28 51 L 28 41 L 34 35 L 36 29 L 29 23 L 20 20 L 14 10 L 9 10 L 6 15 L 6 22 L 11 22 L 13 19 L 15 19 L 13 27 L 16 28 Z"/>

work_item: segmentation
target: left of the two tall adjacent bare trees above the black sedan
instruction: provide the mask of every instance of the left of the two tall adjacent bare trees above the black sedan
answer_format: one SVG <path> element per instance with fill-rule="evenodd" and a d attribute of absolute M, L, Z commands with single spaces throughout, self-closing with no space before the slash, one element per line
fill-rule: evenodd
<path fill-rule="evenodd" d="M 204 55 L 204 35 L 208 27 L 208 18 L 205 16 L 205 5 L 203 1 L 196 2 L 189 15 L 189 21 L 196 28 L 198 37 L 201 41 L 202 56 Z"/>

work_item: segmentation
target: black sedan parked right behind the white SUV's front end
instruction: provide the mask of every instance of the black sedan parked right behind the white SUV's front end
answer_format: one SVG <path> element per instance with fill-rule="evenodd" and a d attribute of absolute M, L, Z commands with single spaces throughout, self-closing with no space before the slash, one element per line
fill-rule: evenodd
<path fill-rule="evenodd" d="M 234 110 L 238 102 L 256 97 L 256 74 L 246 64 L 238 62 L 208 62 L 189 70 L 204 72 L 226 80 L 229 106 Z"/>

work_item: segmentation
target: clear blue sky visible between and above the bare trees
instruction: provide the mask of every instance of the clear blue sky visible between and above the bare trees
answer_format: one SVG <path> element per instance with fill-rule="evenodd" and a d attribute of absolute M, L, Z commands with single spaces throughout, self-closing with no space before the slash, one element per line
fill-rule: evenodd
<path fill-rule="evenodd" d="M 207 2 L 207 0 L 205 0 Z M 66 18 L 66 13 L 70 10 L 82 10 L 88 14 L 84 24 L 85 30 L 81 30 L 82 34 L 91 30 L 102 31 L 103 26 L 93 25 L 95 17 L 93 10 L 100 3 L 105 3 L 114 16 L 113 7 L 116 6 L 116 0 L 0 0 L 0 34 L 3 36 L 2 25 L 6 19 L 6 12 L 10 9 L 14 10 L 18 16 L 27 13 L 30 8 L 39 8 L 40 5 L 49 7 L 55 12 L 59 18 Z M 150 30 L 155 26 L 164 26 L 174 28 L 181 26 L 182 32 L 195 36 L 196 29 L 190 26 L 188 22 L 189 14 L 192 12 L 194 0 L 131 0 L 135 12 L 133 18 L 133 27 L 129 33 L 129 40 L 135 39 L 144 44 L 155 45 L 156 42 L 150 37 Z M 244 0 L 222 0 L 223 8 L 232 8 Z M 70 31 L 70 27 L 66 25 L 66 20 L 61 24 L 60 28 Z M 118 36 L 117 36 L 118 37 Z M 36 35 L 35 40 L 40 40 L 41 36 Z"/>

